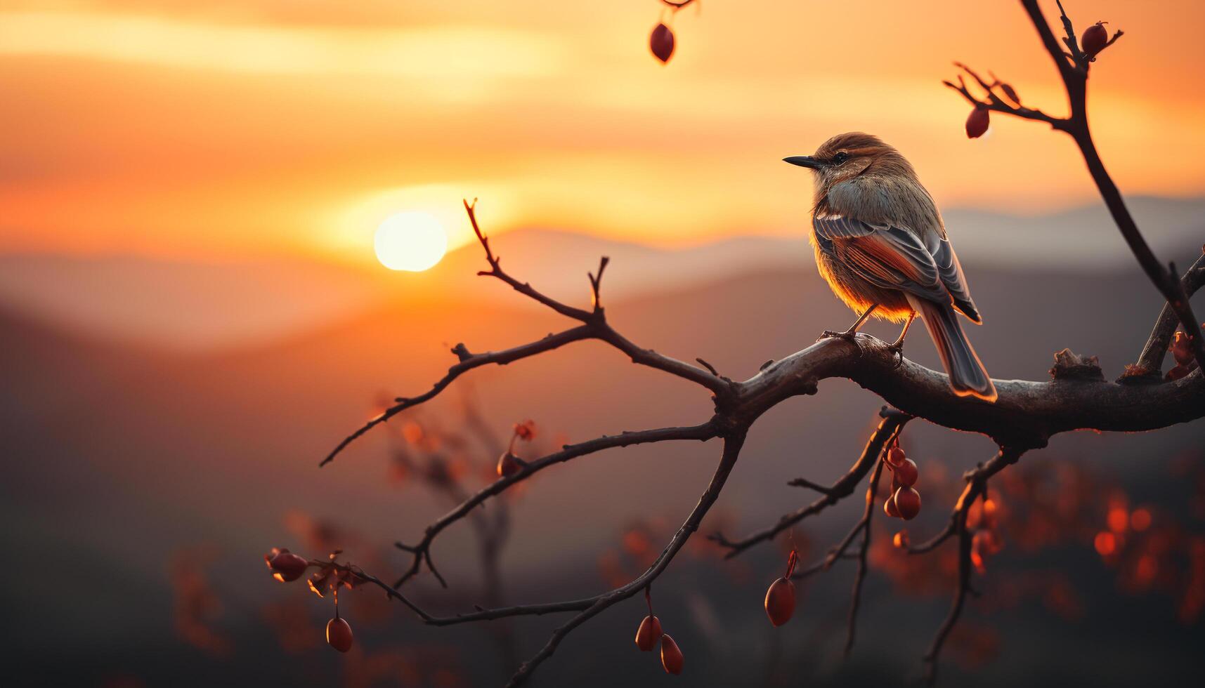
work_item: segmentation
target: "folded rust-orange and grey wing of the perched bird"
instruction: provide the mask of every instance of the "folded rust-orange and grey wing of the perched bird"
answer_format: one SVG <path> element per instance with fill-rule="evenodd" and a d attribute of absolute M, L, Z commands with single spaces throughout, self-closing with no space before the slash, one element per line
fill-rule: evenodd
<path fill-rule="evenodd" d="M 812 227 L 823 249 L 871 284 L 930 301 L 953 299 L 960 311 L 978 321 L 948 241 L 935 237 L 929 247 L 906 229 L 839 216 L 817 217 Z"/>

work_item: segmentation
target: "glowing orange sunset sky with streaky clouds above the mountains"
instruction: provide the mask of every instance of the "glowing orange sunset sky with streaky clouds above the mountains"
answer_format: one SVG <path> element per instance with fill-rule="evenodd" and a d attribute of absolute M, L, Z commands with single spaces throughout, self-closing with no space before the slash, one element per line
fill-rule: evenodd
<path fill-rule="evenodd" d="M 945 207 L 1095 199 L 1070 140 L 997 118 L 968 141 L 940 86 L 962 59 L 1062 113 L 1013 1 L 703 5 L 662 66 L 654 0 L 6 0 L 0 252 L 370 260 L 401 210 L 463 242 L 462 195 L 494 231 L 789 235 L 811 186 L 780 159 L 854 129 Z M 1118 184 L 1205 193 L 1205 2 L 1066 6 L 1125 30 L 1091 82 Z"/>

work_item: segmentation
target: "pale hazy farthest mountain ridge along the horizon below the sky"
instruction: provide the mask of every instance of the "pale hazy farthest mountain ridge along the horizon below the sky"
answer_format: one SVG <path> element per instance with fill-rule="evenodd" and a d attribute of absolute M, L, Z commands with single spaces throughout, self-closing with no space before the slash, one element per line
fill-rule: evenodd
<path fill-rule="evenodd" d="M 1129 206 L 1163 259 L 1191 260 L 1205 241 L 1205 199 L 1139 196 L 1129 199 Z M 946 219 L 966 265 L 1099 272 L 1133 263 L 1100 204 L 1033 217 L 956 208 Z M 551 229 L 510 231 L 492 241 L 511 271 L 565 298 L 588 298 L 586 272 L 598 269 L 599 257 L 609 255 L 607 293 L 635 298 L 754 270 L 812 271 L 803 228 L 783 228 L 783 234 L 786 239 L 747 236 L 672 249 Z M 476 245 L 451 252 L 440 265 L 417 275 L 375 264 L 301 259 L 221 263 L 12 254 L 0 255 L 0 305 L 112 341 L 193 352 L 236 349 L 389 302 L 471 294 L 515 306 L 509 289 L 482 286 L 475 277 L 483 266 Z"/>

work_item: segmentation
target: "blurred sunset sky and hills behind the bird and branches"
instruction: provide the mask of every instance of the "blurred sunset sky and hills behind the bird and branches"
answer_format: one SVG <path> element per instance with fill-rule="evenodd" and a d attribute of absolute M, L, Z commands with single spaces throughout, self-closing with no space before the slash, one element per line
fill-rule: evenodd
<path fill-rule="evenodd" d="M 851 313 L 804 240 L 807 172 L 841 131 L 899 147 L 944 208 L 998 378 L 1052 353 L 1133 363 L 1160 307 L 1078 153 L 1004 118 L 963 133 L 951 60 L 1062 113 L 1015 2 L 606 5 L 6 0 L 0 6 L 0 593 L 13 686 L 499 686 L 556 618 L 431 629 L 372 590 L 343 596 L 355 647 L 325 647 L 328 599 L 264 569 L 272 546 L 336 548 L 382 578 L 465 490 L 518 453 L 693 424 L 707 396 L 593 342 L 462 378 L 318 461 L 383 400 L 425 390 L 464 342 L 565 327 L 495 281 L 588 304 L 610 255 L 612 323 L 642 346 L 748 377 Z M 1044 2 L 1048 16 L 1053 2 Z M 1205 6 L 1069 0 L 1125 36 L 1092 72 L 1101 155 L 1156 253 L 1205 240 Z M 648 33 L 669 23 L 662 65 Z M 446 253 L 445 253 L 446 252 Z M 395 271 L 402 266 L 419 271 Z M 1198 299 L 1198 311 L 1205 301 Z M 893 327 L 872 325 L 894 337 Z M 916 336 L 910 358 L 937 365 Z M 845 381 L 751 434 L 701 534 L 762 528 L 854 460 L 881 406 Z M 946 686 L 1183 684 L 1205 641 L 1205 424 L 1056 437 L 993 488 L 984 563 L 941 665 Z M 916 422 L 924 510 L 992 443 Z M 616 449 L 549 469 L 460 523 L 412 593 L 452 613 L 595 594 L 637 575 L 707 483 L 718 443 Z M 633 648 L 634 598 L 575 631 L 539 686 L 905 684 L 948 606 L 946 547 L 906 559 L 876 518 L 859 643 L 841 660 L 852 566 L 809 580 L 790 624 L 762 610 L 794 543 L 812 561 L 851 499 L 735 561 L 701 536 L 654 587 L 686 672 Z M 700 534 L 700 535 L 701 535 Z"/>

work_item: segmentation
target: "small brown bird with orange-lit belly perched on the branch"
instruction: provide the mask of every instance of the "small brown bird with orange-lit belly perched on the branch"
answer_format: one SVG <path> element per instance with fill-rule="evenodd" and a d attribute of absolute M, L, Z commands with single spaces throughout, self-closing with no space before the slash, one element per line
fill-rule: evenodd
<path fill-rule="evenodd" d="M 995 386 L 966 339 L 957 313 L 982 324 L 966 276 L 946 235 L 933 196 L 911 163 L 877 136 L 852 131 L 812 155 L 783 161 L 813 172 L 816 195 L 809 241 L 821 277 L 858 319 L 844 333 L 853 341 L 871 316 L 903 322 L 890 348 L 903 357 L 904 337 L 919 316 L 959 396 L 997 400 Z"/>

